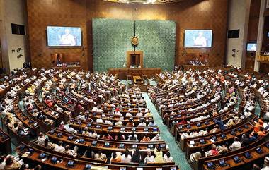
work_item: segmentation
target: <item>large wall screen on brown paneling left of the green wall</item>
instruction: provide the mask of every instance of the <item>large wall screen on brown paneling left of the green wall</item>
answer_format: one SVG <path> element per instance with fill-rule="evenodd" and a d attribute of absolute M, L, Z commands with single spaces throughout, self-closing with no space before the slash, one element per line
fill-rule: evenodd
<path fill-rule="evenodd" d="M 47 26 L 47 46 L 81 47 L 81 28 Z"/>

